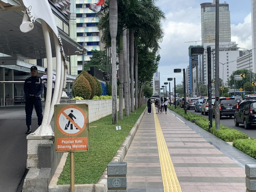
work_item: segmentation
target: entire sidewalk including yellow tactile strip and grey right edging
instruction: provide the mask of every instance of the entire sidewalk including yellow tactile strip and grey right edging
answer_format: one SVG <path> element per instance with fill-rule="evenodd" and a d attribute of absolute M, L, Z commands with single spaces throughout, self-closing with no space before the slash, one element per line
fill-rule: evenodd
<path fill-rule="evenodd" d="M 128 192 L 244 192 L 244 165 L 256 164 L 173 111 L 156 114 L 154 107 L 142 118 L 124 162 Z"/>

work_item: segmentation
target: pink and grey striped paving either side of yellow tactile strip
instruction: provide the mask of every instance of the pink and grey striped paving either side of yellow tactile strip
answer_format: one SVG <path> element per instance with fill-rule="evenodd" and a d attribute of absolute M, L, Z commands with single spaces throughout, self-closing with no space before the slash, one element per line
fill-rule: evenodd
<path fill-rule="evenodd" d="M 245 170 L 168 111 L 158 120 L 182 192 L 244 192 Z M 154 114 L 145 114 L 124 158 L 128 192 L 164 192 Z"/>

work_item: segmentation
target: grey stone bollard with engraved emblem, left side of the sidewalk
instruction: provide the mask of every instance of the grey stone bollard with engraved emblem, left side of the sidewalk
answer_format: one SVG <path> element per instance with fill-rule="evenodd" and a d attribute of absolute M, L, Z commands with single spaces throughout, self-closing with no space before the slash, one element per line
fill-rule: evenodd
<path fill-rule="evenodd" d="M 108 164 L 108 192 L 127 192 L 127 162 L 110 162 Z"/>

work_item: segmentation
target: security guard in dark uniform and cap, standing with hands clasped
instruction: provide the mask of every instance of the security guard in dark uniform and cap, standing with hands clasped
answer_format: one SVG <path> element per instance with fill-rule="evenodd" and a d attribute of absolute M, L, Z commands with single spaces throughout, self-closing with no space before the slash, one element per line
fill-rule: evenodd
<path fill-rule="evenodd" d="M 42 124 L 43 113 L 42 113 L 42 102 L 41 94 L 44 88 L 44 82 L 40 77 L 37 76 L 38 70 L 36 66 L 30 68 L 31 77 L 26 78 L 24 83 L 24 93 L 26 95 L 26 125 L 28 130 L 26 134 L 31 133 L 31 116 L 33 111 L 33 106 L 35 106 L 36 116 L 38 118 L 38 125 Z"/>

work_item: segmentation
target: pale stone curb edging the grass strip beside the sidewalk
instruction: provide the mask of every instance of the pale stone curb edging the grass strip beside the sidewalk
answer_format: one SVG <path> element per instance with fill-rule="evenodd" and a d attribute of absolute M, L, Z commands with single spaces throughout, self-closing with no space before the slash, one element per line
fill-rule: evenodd
<path fill-rule="evenodd" d="M 146 112 L 146 109 L 142 112 L 140 117 L 138 118 L 137 122 L 134 124 L 132 129 L 130 130 L 127 137 L 124 139 L 124 142 L 117 150 L 115 156 L 113 157 L 111 162 L 122 162 L 124 157 L 128 151 L 130 144 L 140 126 L 140 122 Z M 60 176 L 62 169 L 65 165 L 67 155 L 63 155 L 54 176 L 49 184 L 49 192 L 70 192 L 70 185 L 57 185 L 58 177 Z M 107 181 L 107 168 L 103 172 L 102 176 L 100 177 L 98 183 L 96 184 L 75 184 L 75 191 L 76 192 L 107 192 L 108 191 L 108 181 Z"/>

